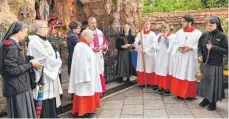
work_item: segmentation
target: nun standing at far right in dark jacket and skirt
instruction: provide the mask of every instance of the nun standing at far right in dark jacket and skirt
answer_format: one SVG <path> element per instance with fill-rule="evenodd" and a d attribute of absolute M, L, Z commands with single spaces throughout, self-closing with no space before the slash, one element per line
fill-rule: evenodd
<path fill-rule="evenodd" d="M 228 37 L 223 33 L 220 20 L 211 16 L 207 20 L 207 32 L 202 34 L 198 43 L 203 79 L 198 95 L 203 97 L 199 104 L 208 106 L 209 111 L 216 109 L 216 102 L 225 97 L 223 82 L 223 56 L 228 54 Z"/>

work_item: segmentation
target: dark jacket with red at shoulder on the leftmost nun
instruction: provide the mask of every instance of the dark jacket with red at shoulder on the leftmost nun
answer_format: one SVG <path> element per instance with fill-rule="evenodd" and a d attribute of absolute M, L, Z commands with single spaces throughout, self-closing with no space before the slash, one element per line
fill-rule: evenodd
<path fill-rule="evenodd" d="M 19 44 L 12 39 L 5 40 L 3 49 L 3 95 L 8 97 L 30 90 L 32 64 L 26 63 Z"/>

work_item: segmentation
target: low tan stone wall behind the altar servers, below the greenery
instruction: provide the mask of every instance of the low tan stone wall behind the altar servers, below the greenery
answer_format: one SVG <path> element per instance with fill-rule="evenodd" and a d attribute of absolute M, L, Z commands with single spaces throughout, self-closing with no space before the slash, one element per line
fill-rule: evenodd
<path fill-rule="evenodd" d="M 206 18 L 210 15 L 217 15 L 224 18 L 228 18 L 228 8 L 215 8 L 205 10 L 193 10 L 187 12 L 171 12 L 171 13 L 148 13 L 144 14 L 143 18 L 151 21 L 151 29 L 154 31 L 160 31 L 160 25 L 163 22 L 169 23 L 174 27 L 174 32 L 181 28 L 180 22 L 185 14 L 193 15 L 195 18 L 194 26 L 203 30 L 206 25 Z"/>

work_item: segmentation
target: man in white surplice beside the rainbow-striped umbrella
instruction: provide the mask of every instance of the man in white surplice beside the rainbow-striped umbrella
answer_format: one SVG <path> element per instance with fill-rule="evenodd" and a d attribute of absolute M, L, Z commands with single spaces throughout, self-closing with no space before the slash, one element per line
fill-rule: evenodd
<path fill-rule="evenodd" d="M 41 118 L 56 118 L 56 109 L 61 106 L 60 94 L 63 93 L 59 78 L 62 61 L 60 58 L 56 58 L 56 53 L 46 38 L 49 33 L 47 22 L 42 20 L 35 21 L 32 25 L 32 30 L 35 35 L 29 36 L 28 55 L 33 56 L 44 64 Z M 41 74 L 41 70 L 35 70 L 37 82 L 40 80 Z M 34 89 L 34 99 L 36 101 L 39 100 L 38 93 L 39 86 Z"/>

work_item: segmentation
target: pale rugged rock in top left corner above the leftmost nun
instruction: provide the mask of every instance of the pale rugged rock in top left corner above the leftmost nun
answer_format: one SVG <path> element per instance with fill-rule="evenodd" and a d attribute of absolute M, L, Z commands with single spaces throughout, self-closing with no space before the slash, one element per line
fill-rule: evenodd
<path fill-rule="evenodd" d="M 0 21 L 6 30 L 11 23 L 22 20 L 20 13 L 22 8 L 28 8 L 28 22 L 35 18 L 35 0 L 0 0 Z"/>

